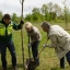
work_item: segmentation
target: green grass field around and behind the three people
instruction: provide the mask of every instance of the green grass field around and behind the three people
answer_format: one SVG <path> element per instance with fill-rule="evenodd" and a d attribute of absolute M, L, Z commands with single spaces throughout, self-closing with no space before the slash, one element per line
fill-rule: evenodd
<path fill-rule="evenodd" d="M 39 51 L 42 49 L 43 44 L 46 42 L 46 33 L 43 32 L 43 30 L 40 28 L 40 24 L 34 24 L 35 26 L 37 26 L 40 31 L 42 34 L 42 42 L 39 44 Z M 63 26 L 63 24 L 59 24 L 61 26 Z M 28 51 L 27 51 L 27 35 L 26 32 L 24 30 L 23 32 L 23 36 L 24 36 L 24 58 L 26 60 L 26 58 L 28 58 Z M 16 59 L 18 59 L 18 68 L 19 70 L 23 70 L 23 60 L 22 60 L 22 46 L 21 46 L 21 33 L 20 31 L 13 31 L 13 42 L 15 45 L 15 50 L 16 50 Z M 66 68 L 65 69 L 60 69 L 59 67 L 59 59 L 57 58 L 57 55 L 55 54 L 55 50 L 52 48 L 45 48 L 44 51 L 40 54 L 39 56 L 40 59 L 40 65 L 39 67 L 36 68 L 36 70 L 70 70 L 70 67 L 68 66 L 68 62 L 66 60 Z M 8 60 L 8 70 L 13 70 L 12 66 L 11 66 L 11 56 L 9 50 L 7 50 L 7 60 Z M 1 58 L 0 58 L 0 70 L 2 69 L 1 67 Z"/>

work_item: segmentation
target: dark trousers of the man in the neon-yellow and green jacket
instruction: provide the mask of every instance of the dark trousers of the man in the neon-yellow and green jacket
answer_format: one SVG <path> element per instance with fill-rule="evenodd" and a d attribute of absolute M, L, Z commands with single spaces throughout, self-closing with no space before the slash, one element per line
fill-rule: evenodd
<path fill-rule="evenodd" d="M 0 44 L 1 47 L 1 61 L 2 61 L 2 67 L 7 68 L 7 47 L 11 54 L 11 58 L 12 58 L 12 66 L 15 67 L 16 66 L 16 55 L 15 55 L 15 48 L 13 45 L 13 42 L 9 42 L 8 44 Z"/>

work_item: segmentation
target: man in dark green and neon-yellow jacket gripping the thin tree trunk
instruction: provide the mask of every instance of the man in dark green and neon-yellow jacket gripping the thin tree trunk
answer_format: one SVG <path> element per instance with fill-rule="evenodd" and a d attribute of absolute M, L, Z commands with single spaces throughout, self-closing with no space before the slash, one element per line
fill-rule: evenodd
<path fill-rule="evenodd" d="M 2 61 L 2 70 L 7 70 L 7 48 L 9 49 L 12 58 L 12 66 L 14 70 L 18 70 L 16 67 L 16 54 L 14 44 L 12 40 L 12 30 L 19 31 L 22 28 L 23 21 L 20 24 L 15 24 L 11 22 L 10 14 L 5 13 L 0 21 L 0 48 L 1 48 L 1 61 Z"/>

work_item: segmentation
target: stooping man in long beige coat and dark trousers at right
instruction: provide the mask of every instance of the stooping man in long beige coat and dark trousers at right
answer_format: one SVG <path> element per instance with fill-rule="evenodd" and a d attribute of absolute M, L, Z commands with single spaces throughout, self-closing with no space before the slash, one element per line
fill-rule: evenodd
<path fill-rule="evenodd" d="M 65 56 L 70 66 L 70 34 L 59 25 L 50 25 L 48 22 L 42 23 L 42 28 L 47 33 L 50 44 L 44 44 L 44 47 L 55 48 L 60 59 L 60 68 L 65 68 Z"/>

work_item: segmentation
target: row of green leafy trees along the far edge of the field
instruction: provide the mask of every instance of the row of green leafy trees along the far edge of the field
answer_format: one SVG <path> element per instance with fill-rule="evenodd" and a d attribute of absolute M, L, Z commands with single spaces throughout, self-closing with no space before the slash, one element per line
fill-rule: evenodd
<path fill-rule="evenodd" d="M 43 4 L 42 8 L 33 8 L 32 13 L 25 15 L 24 20 L 30 22 L 39 23 L 43 21 L 49 22 L 70 22 L 70 9 L 66 4 L 67 0 L 62 2 L 63 8 L 60 8 L 57 3 L 49 2 Z M 0 11 L 0 19 L 2 18 L 2 11 Z M 13 13 L 12 21 L 18 22 L 21 20 L 21 16 L 18 16 L 16 13 Z"/>

